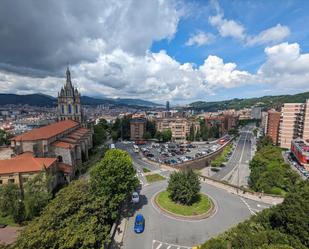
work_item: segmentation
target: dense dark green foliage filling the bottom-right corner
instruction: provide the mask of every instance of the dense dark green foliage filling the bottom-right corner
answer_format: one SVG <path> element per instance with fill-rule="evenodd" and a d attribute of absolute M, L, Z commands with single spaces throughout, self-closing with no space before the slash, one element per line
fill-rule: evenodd
<path fill-rule="evenodd" d="M 240 223 L 202 249 L 309 248 L 309 182 L 301 182 L 284 202 Z"/>

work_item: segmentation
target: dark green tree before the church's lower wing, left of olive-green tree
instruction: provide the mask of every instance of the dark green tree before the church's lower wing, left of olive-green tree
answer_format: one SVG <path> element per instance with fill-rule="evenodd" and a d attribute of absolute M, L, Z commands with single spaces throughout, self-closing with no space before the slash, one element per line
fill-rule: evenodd
<path fill-rule="evenodd" d="M 47 176 L 48 177 L 48 176 Z M 25 184 L 24 203 L 28 220 L 38 216 L 51 200 L 48 181 L 45 175 L 38 174 Z"/>

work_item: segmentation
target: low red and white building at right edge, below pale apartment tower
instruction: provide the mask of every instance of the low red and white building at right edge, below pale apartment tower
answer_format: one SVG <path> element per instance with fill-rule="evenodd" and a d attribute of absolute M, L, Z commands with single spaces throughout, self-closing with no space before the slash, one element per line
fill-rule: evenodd
<path fill-rule="evenodd" d="M 300 138 L 292 140 L 291 152 L 297 161 L 309 171 L 309 140 Z"/>

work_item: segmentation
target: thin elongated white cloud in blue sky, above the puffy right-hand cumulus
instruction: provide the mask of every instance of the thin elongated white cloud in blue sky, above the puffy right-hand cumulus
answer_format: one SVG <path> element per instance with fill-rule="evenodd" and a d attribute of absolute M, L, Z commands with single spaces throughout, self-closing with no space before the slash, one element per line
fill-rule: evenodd
<path fill-rule="evenodd" d="M 290 35 L 290 29 L 287 26 L 277 24 L 274 27 L 266 29 L 259 33 L 257 36 L 248 37 L 248 45 L 276 43 L 284 40 Z"/>

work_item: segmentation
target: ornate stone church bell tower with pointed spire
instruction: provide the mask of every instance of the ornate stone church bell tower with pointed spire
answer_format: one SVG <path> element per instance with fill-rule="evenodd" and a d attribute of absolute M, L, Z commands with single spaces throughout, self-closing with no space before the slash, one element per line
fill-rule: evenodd
<path fill-rule="evenodd" d="M 58 121 L 68 119 L 80 123 L 83 121 L 80 93 L 72 85 L 69 67 L 66 71 L 66 82 L 58 92 Z"/>

